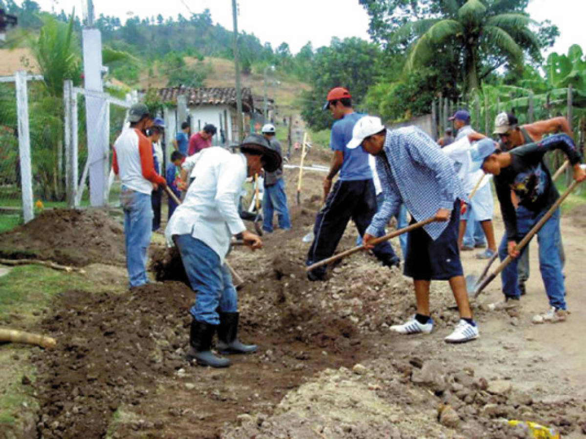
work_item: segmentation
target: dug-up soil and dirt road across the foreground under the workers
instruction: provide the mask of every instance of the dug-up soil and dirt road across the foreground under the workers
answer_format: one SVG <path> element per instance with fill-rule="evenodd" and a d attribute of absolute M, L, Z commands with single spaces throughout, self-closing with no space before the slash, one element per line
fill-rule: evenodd
<path fill-rule="evenodd" d="M 568 322 L 530 323 L 547 307 L 532 244 L 522 310 L 485 310 L 500 298 L 496 280 L 475 304 L 481 338 L 448 345 L 443 338 L 458 315 L 444 282 L 432 284 L 434 332 L 406 337 L 389 330 L 415 310 L 411 281 L 397 269 L 355 254 L 328 281 L 306 279 L 309 244 L 301 238 L 320 207 L 323 175 L 305 173 L 295 206 L 297 175 L 285 172 L 294 229 L 264 236 L 261 251 L 236 248 L 228 258 L 244 279 L 239 337 L 257 343 L 258 352 L 232 355 L 222 370 L 185 361 L 194 295 L 183 282 L 118 294 L 64 292 L 39 328 L 57 338 L 56 350 L 33 348 L 38 437 L 530 437 L 505 419 L 581 437 L 586 299 L 579 264 L 586 238 L 571 216 L 563 220 Z M 501 224 L 495 221 L 497 236 Z M 352 247 L 355 236 L 350 224 L 339 250 Z M 169 269 L 172 254 L 152 247 L 156 276 L 178 279 L 178 265 Z M 485 262 L 471 252 L 462 260 L 466 274 Z M 108 276 L 101 265 L 91 267 L 96 279 Z"/>

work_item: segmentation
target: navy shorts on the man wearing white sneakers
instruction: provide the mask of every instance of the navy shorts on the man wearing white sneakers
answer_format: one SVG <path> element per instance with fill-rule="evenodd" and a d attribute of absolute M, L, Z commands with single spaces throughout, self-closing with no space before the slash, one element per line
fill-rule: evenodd
<path fill-rule="evenodd" d="M 407 255 L 404 274 L 415 281 L 447 281 L 464 275 L 458 250 L 460 202 L 456 201 L 449 217 L 448 226 L 432 240 L 420 227 L 407 234 Z M 411 220 L 414 224 L 415 220 Z"/>

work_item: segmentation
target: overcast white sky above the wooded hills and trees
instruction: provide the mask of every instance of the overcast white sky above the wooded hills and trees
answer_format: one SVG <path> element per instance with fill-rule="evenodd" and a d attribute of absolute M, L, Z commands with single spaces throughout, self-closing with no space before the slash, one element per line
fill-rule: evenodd
<path fill-rule="evenodd" d="M 87 0 L 37 0 L 45 11 L 70 13 L 73 7 L 80 14 Z M 21 3 L 17 0 L 17 3 Z M 189 17 L 210 9 L 214 23 L 232 29 L 231 0 L 94 0 L 96 16 L 114 15 L 122 22 L 132 15 L 141 18 L 161 15 L 177 18 L 178 13 Z M 358 0 L 237 0 L 240 31 L 254 33 L 261 43 L 270 42 L 276 49 L 287 42 L 292 53 L 308 41 L 317 49 L 328 46 L 333 36 L 343 39 L 357 36 L 368 39 L 368 16 Z M 555 5 L 555 7 L 552 7 Z M 527 12 L 541 21 L 551 20 L 560 28 L 560 37 L 553 51 L 567 53 L 571 44 L 586 50 L 584 0 L 530 0 Z"/>

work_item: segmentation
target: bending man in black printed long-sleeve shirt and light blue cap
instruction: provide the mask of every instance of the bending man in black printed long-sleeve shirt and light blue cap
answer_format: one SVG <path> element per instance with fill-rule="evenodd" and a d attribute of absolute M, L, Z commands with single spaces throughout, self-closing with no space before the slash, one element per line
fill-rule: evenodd
<path fill-rule="evenodd" d="M 492 309 L 512 309 L 519 306 L 521 291 L 517 284 L 517 264 L 520 252 L 517 243 L 548 213 L 560 198 L 551 176 L 543 164 L 543 155 L 560 149 L 574 167 L 574 179 L 584 181 L 586 175 L 580 168 L 580 154 L 567 134 L 554 134 L 537 143 L 529 143 L 506 153 L 501 153 L 496 143 L 477 144 L 476 164 L 482 170 L 495 175 L 496 195 L 505 222 L 506 233 L 499 246 L 500 260 L 507 255 L 512 261 L 500 272 L 505 298 L 492 304 Z M 513 189 L 519 206 L 515 210 L 510 197 Z M 537 231 L 539 243 L 539 269 L 546 288 L 550 309 L 533 318 L 534 323 L 563 322 L 567 317 L 564 276 L 560 252 L 556 243 L 560 240 L 560 210 Z M 527 247 L 521 250 L 526 251 Z"/>

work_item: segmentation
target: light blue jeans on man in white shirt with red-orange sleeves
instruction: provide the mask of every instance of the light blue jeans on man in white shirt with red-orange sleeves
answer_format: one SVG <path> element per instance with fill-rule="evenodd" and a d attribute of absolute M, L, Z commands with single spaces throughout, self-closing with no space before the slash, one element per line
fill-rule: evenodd
<path fill-rule="evenodd" d="M 147 248 L 151 241 L 153 212 L 151 194 L 121 186 L 120 203 L 124 210 L 124 244 L 128 284 L 147 284 Z"/>

